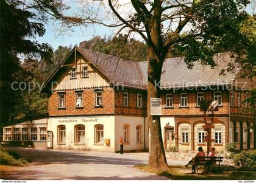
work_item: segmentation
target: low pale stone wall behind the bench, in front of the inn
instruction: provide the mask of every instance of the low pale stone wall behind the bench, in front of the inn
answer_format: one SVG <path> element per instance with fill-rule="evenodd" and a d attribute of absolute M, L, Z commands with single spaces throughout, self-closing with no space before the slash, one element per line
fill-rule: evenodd
<path fill-rule="evenodd" d="M 194 156 L 196 156 L 197 151 L 179 151 L 179 152 L 165 152 L 166 158 L 168 159 L 177 159 L 190 161 Z M 228 159 L 228 153 L 218 154 L 217 156 L 223 156 L 223 164 L 224 165 L 235 165 L 233 159 Z"/>

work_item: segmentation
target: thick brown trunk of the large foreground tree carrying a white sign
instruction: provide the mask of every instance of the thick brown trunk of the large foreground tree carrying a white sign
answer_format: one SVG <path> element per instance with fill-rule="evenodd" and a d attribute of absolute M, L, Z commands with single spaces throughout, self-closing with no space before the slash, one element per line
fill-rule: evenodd
<path fill-rule="evenodd" d="M 162 61 L 155 57 L 152 50 L 149 50 L 148 58 L 148 102 L 147 114 L 148 125 L 150 129 L 150 149 L 149 149 L 149 167 L 155 170 L 167 170 L 168 164 L 165 157 L 165 149 L 163 147 L 162 131 L 160 125 L 160 116 L 151 116 L 150 98 L 160 97 L 160 88 L 155 88 L 155 83 L 160 81 L 162 71 Z M 152 120 L 155 120 L 153 123 Z"/>

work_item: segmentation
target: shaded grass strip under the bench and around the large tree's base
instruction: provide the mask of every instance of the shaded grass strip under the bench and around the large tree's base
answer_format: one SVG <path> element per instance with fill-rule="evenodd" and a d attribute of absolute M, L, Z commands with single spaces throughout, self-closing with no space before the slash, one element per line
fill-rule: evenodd
<path fill-rule="evenodd" d="M 221 167 L 221 173 L 208 174 L 191 174 L 191 166 L 185 168 L 181 165 L 169 166 L 167 171 L 156 171 L 148 167 L 148 165 L 136 165 L 139 170 L 165 176 L 172 180 L 255 180 L 256 172 L 254 168 L 236 168 L 231 166 Z M 198 173 L 203 171 L 204 167 L 199 167 Z"/>

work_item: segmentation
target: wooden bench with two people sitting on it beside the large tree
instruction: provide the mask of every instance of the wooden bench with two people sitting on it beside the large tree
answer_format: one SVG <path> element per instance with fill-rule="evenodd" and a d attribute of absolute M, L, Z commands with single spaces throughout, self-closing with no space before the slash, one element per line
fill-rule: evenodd
<path fill-rule="evenodd" d="M 194 165 L 196 165 L 196 173 L 198 174 L 198 165 L 204 165 L 207 166 L 207 172 L 210 172 L 210 166 L 213 166 L 213 172 L 215 172 L 216 165 L 218 166 L 218 172 L 220 172 L 220 165 L 223 161 L 223 157 L 218 156 L 196 156 Z M 193 171 L 193 170 L 192 170 Z"/>

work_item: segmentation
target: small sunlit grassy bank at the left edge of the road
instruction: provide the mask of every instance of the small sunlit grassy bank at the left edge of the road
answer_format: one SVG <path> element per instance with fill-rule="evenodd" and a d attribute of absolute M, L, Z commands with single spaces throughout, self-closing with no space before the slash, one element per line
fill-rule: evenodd
<path fill-rule="evenodd" d="M 20 158 L 20 154 L 15 152 L 7 152 L 0 147 L 0 165 L 26 165 L 27 161 Z"/>

